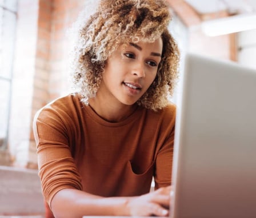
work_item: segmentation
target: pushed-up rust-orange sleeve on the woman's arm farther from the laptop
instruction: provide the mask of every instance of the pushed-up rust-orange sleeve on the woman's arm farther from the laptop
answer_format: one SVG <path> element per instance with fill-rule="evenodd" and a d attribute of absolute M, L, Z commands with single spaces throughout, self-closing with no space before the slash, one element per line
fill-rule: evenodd
<path fill-rule="evenodd" d="M 42 193 L 51 205 L 54 195 L 64 188 L 82 189 L 81 177 L 69 147 L 65 118 L 50 106 L 34 118 L 39 177 Z"/>

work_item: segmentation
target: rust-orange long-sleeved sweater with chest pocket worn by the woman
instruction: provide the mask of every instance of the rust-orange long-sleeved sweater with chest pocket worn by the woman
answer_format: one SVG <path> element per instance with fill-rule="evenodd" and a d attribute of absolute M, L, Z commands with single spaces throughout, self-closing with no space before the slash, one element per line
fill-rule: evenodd
<path fill-rule="evenodd" d="M 136 196 L 170 185 L 175 106 L 143 107 L 107 122 L 67 95 L 43 107 L 34 120 L 42 192 L 50 204 L 63 188 L 100 196 Z"/>

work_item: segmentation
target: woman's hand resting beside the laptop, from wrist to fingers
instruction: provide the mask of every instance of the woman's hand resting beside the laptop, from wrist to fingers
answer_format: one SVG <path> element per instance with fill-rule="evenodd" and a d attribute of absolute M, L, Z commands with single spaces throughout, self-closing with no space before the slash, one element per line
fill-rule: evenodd
<path fill-rule="evenodd" d="M 168 216 L 171 186 L 139 197 L 133 197 L 127 203 L 131 216 Z"/>

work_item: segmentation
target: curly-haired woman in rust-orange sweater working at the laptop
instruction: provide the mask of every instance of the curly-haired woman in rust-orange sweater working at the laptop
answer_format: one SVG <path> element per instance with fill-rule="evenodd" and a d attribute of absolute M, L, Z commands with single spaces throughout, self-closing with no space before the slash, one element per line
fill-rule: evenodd
<path fill-rule="evenodd" d="M 78 91 L 34 120 L 42 192 L 55 217 L 168 215 L 175 124 L 168 97 L 179 62 L 169 21 L 162 0 L 102 0 L 83 21 Z"/>

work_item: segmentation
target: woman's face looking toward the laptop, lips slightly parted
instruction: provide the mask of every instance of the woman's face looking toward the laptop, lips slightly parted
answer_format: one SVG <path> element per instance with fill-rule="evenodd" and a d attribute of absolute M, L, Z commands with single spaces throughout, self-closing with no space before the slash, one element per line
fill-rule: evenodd
<path fill-rule="evenodd" d="M 98 92 L 109 103 L 131 105 L 147 91 L 157 75 L 163 42 L 124 44 L 109 57 Z"/>

